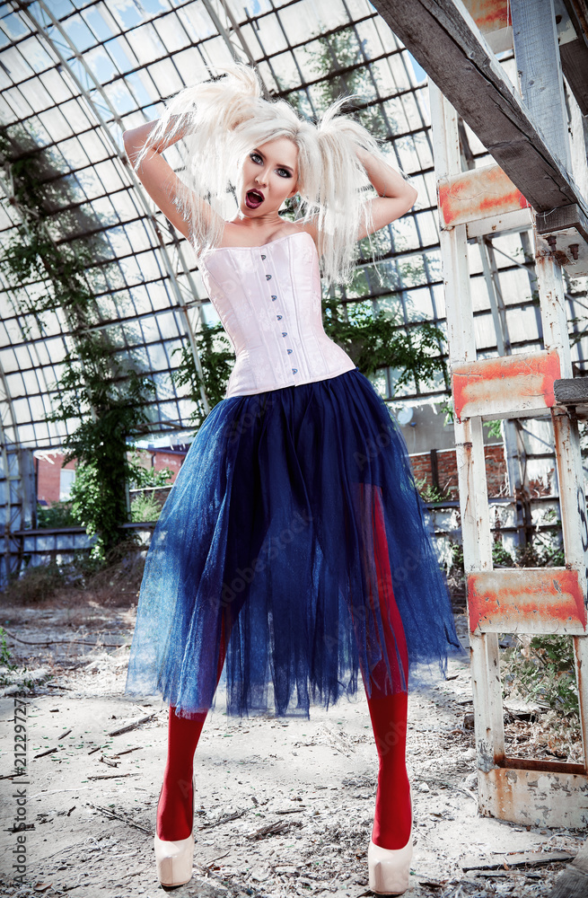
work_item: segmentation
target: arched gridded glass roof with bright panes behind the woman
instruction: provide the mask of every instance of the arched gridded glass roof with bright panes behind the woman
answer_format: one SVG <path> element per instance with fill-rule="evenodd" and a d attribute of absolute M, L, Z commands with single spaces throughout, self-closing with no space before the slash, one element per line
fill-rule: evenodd
<path fill-rule="evenodd" d="M 122 131 L 156 118 L 162 100 L 233 58 L 254 62 L 271 95 L 309 115 L 341 92 L 359 94 L 359 118 L 386 141 L 419 197 L 408 216 L 382 231 L 382 259 L 362 260 L 353 285 L 338 294 L 399 310 L 407 327 L 423 319 L 444 326 L 426 75 L 367 0 L 0 4 L 0 128 L 17 156 L 35 153 L 51 238 L 91 254 L 84 327 L 107 333 L 120 358 L 153 378 L 152 432 L 175 435 L 171 442 L 190 430 L 193 411 L 187 388 L 171 377 L 180 360 L 174 352 L 189 330 L 217 318 L 188 242 L 129 171 Z M 466 134 L 475 163 L 490 162 Z M 176 148 L 167 158 L 180 167 Z M 4 170 L 0 187 L 5 246 L 22 208 L 11 201 L 11 172 Z M 524 239 L 502 236 L 494 247 L 513 351 L 540 348 Z M 470 249 L 478 350 L 496 354 L 478 244 Z M 0 414 L 16 445 L 55 446 L 66 433 L 47 416 L 58 403 L 64 359 L 75 355 L 75 327 L 58 304 L 39 313 L 47 293 L 42 265 L 18 286 L 0 275 Z M 579 344 L 575 359 L 582 362 L 584 352 Z M 387 399 L 394 377 L 386 371 L 373 378 Z M 445 390 L 440 377 L 433 388 L 410 383 L 397 398 L 431 400 Z"/>

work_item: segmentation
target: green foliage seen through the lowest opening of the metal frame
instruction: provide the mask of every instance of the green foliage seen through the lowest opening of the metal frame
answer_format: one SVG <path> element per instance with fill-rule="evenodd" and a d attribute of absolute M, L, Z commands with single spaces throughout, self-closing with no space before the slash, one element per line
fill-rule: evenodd
<path fill-rule="evenodd" d="M 501 660 L 504 695 L 536 701 L 564 717 L 579 715 L 572 639 L 514 637 Z"/>

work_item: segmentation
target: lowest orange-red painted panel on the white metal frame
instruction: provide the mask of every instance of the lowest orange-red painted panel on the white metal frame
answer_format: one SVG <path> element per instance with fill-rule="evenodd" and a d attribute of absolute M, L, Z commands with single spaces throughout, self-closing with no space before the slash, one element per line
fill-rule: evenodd
<path fill-rule="evenodd" d="M 468 577 L 470 630 L 482 633 L 586 631 L 578 572 L 567 568 L 480 571 Z"/>

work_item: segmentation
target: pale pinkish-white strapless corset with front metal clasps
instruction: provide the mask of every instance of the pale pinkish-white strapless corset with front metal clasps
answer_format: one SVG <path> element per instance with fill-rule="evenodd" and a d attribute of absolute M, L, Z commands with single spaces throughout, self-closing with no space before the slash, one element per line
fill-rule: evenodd
<path fill-rule="evenodd" d="M 235 350 L 227 398 L 355 368 L 322 326 L 319 256 L 310 233 L 288 233 L 263 246 L 217 247 L 199 265 Z"/>

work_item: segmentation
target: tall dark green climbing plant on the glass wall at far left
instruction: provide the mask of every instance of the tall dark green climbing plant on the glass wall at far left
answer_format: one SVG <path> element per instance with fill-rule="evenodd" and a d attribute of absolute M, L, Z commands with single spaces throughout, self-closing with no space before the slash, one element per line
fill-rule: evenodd
<path fill-rule="evenodd" d="M 118 360 L 107 330 L 97 327 L 101 314 L 89 270 L 109 258 L 108 248 L 100 237 L 65 239 L 92 234 L 99 223 L 76 207 L 52 151 L 31 144 L 26 132 L 12 130 L 9 136 L 0 129 L 0 163 L 12 181 L 9 201 L 20 218 L 16 236 L 0 252 L 0 270 L 25 334 L 33 323 L 43 333 L 48 313 L 66 319 L 69 351 L 48 420 L 79 422 L 64 440 L 64 463 L 78 462 L 72 513 L 97 537 L 94 557 L 104 559 L 127 521 L 126 484 L 135 470 L 127 440 L 147 423 L 145 403 L 154 385 Z M 26 284 L 36 287 L 24 290 Z"/>

